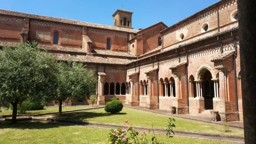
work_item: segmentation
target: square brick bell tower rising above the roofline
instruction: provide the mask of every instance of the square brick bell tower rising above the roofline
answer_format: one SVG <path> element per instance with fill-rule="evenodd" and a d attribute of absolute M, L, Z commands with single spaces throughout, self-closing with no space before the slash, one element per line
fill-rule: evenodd
<path fill-rule="evenodd" d="M 131 15 L 133 12 L 118 9 L 113 15 L 114 26 L 131 27 Z"/>

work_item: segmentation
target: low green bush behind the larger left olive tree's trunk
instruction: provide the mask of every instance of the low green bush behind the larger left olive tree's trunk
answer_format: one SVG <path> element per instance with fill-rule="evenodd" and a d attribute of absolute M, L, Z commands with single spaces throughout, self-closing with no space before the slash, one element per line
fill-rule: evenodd
<path fill-rule="evenodd" d="M 10 109 L 13 110 L 13 105 L 10 104 Z M 32 101 L 24 101 L 21 105 L 18 104 L 18 113 L 26 113 L 26 111 L 43 110 L 44 105 Z"/>

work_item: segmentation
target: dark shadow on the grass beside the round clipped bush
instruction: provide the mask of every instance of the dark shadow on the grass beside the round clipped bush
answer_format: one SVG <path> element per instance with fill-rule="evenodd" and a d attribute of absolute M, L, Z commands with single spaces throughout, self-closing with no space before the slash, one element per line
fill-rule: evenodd
<path fill-rule="evenodd" d="M 111 114 L 107 112 L 93 112 L 93 111 L 79 111 L 74 113 L 63 113 L 61 117 L 56 116 L 56 118 L 73 120 L 73 121 L 84 121 L 86 118 L 96 118 L 96 117 L 109 117 L 113 115 L 125 115 L 126 112 L 119 112 L 116 114 Z"/>

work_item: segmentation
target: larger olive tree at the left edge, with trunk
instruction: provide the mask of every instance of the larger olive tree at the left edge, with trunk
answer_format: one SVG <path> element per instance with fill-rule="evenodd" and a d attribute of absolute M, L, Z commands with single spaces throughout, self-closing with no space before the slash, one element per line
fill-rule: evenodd
<path fill-rule="evenodd" d="M 0 102 L 13 105 L 12 122 L 17 122 L 17 105 L 30 99 L 47 100 L 58 88 L 58 67 L 36 42 L 3 47 L 0 51 Z"/>

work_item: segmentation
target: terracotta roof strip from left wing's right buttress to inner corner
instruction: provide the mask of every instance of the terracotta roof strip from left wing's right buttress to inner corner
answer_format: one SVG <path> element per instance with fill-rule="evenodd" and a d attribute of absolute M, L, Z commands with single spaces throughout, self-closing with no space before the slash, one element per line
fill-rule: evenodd
<path fill-rule="evenodd" d="M 136 58 L 135 55 L 132 55 L 128 52 L 116 52 L 116 51 L 109 51 L 109 50 L 92 50 L 92 53 L 94 54 L 100 54 L 100 55 L 109 55 L 109 56 L 122 56 L 122 57 L 130 57 L 130 58 Z"/>

